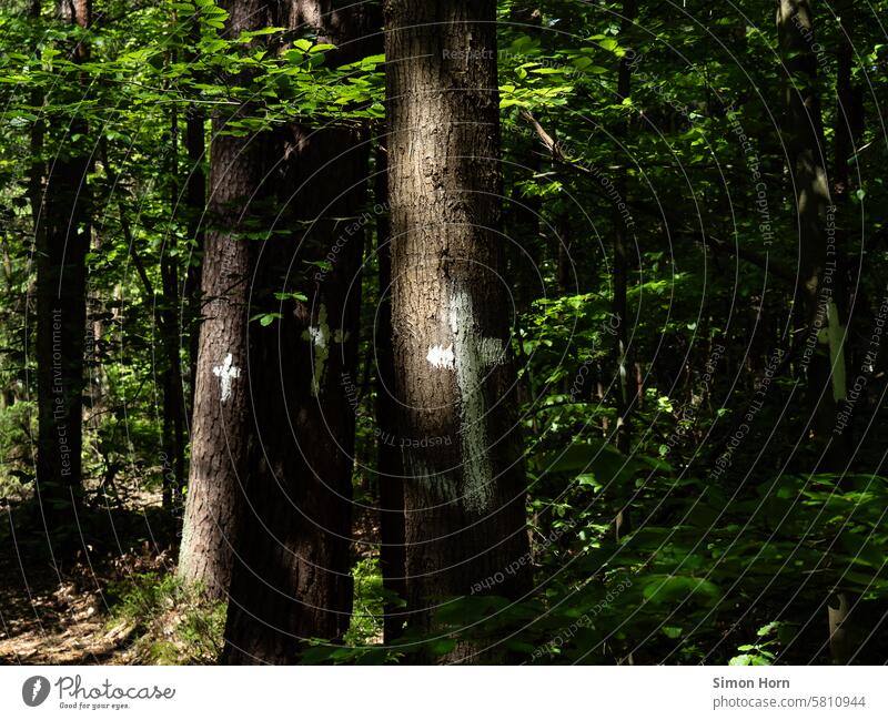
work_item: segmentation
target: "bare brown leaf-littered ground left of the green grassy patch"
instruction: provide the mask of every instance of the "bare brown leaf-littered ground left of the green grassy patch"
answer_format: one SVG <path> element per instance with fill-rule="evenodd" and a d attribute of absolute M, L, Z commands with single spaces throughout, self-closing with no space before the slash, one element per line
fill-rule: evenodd
<path fill-rule="evenodd" d="M 53 548 L 29 500 L 7 504 L 0 526 L 0 665 L 134 662 L 134 623 L 115 617 L 108 590 L 171 567 L 160 496 L 93 508 L 79 536 Z M 39 529 L 38 529 L 39 528 Z M 59 552 L 62 550 L 62 552 Z M 62 560 L 62 555 L 65 559 Z"/>

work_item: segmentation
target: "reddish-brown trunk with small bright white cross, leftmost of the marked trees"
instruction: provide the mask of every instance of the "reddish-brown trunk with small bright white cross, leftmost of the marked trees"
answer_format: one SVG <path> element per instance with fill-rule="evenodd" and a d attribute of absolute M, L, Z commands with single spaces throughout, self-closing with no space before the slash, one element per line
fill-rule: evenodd
<path fill-rule="evenodd" d="M 228 32 L 271 24 L 263 0 L 220 3 L 230 14 Z M 219 134 L 225 118 L 213 118 L 210 150 L 210 230 L 203 257 L 194 412 L 179 576 L 208 598 L 223 599 L 231 581 L 232 547 L 239 529 L 249 433 L 246 321 L 249 244 L 244 233 L 268 225 L 261 185 L 268 138 Z"/>

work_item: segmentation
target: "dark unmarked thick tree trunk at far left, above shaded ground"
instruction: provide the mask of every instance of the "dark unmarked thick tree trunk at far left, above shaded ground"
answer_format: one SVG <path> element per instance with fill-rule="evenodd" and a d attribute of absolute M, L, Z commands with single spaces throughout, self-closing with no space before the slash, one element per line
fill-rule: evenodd
<path fill-rule="evenodd" d="M 60 2 L 58 12 L 65 22 L 90 26 L 89 0 Z M 88 55 L 81 41 L 71 59 L 83 62 Z M 57 536 L 77 535 L 82 485 L 85 258 L 91 235 L 87 175 L 92 165 L 87 132 L 85 122 L 74 118 L 69 132 L 58 139 L 58 151 L 49 159 L 46 222 L 37 229 L 37 491 L 43 517 Z"/>

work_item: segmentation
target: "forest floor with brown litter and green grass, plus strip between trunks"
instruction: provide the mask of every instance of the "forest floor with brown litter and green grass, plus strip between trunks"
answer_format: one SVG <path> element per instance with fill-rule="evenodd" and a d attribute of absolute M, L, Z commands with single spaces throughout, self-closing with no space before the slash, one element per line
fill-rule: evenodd
<path fill-rule="evenodd" d="M 93 496 L 62 547 L 50 545 L 32 498 L 0 498 L 0 666 L 214 660 L 224 610 L 208 615 L 163 589 L 176 535 L 160 493 L 133 490 L 114 503 Z M 382 642 L 377 513 L 359 513 L 354 531 L 354 630 L 363 642 Z M 191 628 L 191 639 L 176 628 Z"/>

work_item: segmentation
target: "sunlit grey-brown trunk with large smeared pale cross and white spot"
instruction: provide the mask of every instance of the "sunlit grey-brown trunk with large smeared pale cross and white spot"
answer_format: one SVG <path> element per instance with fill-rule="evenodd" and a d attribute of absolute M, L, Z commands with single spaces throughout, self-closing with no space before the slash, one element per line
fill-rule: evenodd
<path fill-rule="evenodd" d="M 495 9 L 492 0 L 385 4 L 392 318 L 407 600 L 420 629 L 443 599 L 482 584 L 513 598 L 527 587 L 501 275 Z M 463 642 L 442 660 L 496 655 L 485 650 Z"/>

